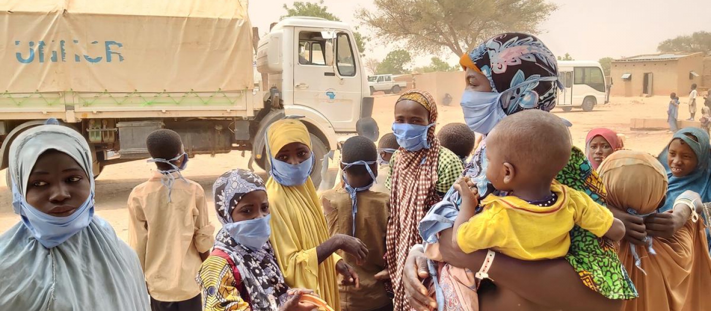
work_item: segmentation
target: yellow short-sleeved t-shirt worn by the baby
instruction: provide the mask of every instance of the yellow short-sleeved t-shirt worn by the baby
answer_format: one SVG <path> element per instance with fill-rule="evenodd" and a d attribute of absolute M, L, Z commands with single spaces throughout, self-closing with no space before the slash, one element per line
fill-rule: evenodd
<path fill-rule="evenodd" d="M 523 260 L 559 258 L 570 248 L 570 230 L 575 224 L 596 236 L 604 236 L 612 227 L 610 210 L 584 192 L 558 182 L 550 190 L 557 195 L 550 207 L 513 196 L 489 195 L 481 202 L 483 211 L 456 232 L 459 248 L 465 253 L 495 249 Z"/>

